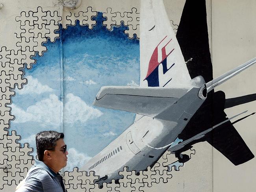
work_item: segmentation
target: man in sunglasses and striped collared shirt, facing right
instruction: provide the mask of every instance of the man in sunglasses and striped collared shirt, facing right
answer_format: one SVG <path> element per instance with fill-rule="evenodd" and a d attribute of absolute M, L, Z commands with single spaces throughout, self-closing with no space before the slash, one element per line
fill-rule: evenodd
<path fill-rule="evenodd" d="M 17 186 L 16 192 L 65 192 L 58 173 L 67 165 L 67 145 L 64 134 L 57 131 L 42 131 L 35 137 L 37 157 L 27 177 Z"/>

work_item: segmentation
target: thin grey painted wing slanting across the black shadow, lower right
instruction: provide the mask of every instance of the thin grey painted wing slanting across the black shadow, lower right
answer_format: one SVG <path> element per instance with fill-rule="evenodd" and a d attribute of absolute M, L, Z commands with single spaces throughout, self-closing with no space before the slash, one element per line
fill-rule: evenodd
<path fill-rule="evenodd" d="M 246 113 L 246 112 L 247 112 L 247 111 L 244 111 L 243 113 Z M 206 133 L 209 133 L 210 131 L 212 131 L 212 130 L 215 129 L 216 127 L 221 126 L 222 124 L 224 124 L 224 123 L 230 121 L 231 119 L 233 119 L 233 118 L 235 118 L 235 117 L 237 117 L 237 116 L 239 116 L 239 115 L 241 115 L 241 114 L 243 114 L 243 113 L 239 113 L 239 114 L 237 114 L 237 115 L 235 115 L 235 116 L 233 116 L 233 117 L 231 117 L 231 118 L 229 118 L 229 119 L 227 119 L 227 120 L 224 120 L 223 122 L 221 122 L 221 123 L 219 123 L 219 124 L 213 126 L 212 128 L 206 129 L 205 131 L 203 131 L 203 132 L 201 132 L 201 133 L 198 133 L 198 134 L 195 135 L 194 137 L 191 137 L 191 138 L 189 138 L 189 139 L 187 139 L 187 140 L 185 140 L 185 141 L 180 142 L 179 144 L 176 144 L 176 145 L 170 147 L 170 148 L 168 149 L 168 151 L 175 152 L 175 151 L 178 151 L 178 150 L 184 148 L 184 146 L 186 146 L 187 144 L 191 143 L 192 141 L 198 140 L 198 139 L 204 137 L 204 136 L 206 135 Z"/>

